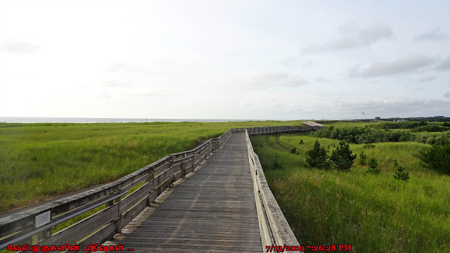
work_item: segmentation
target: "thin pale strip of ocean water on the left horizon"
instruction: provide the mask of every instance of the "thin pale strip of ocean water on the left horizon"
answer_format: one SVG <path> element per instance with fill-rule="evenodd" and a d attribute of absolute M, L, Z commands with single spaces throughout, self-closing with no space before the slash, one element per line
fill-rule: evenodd
<path fill-rule="evenodd" d="M 245 122 L 255 119 L 133 119 L 71 117 L 0 117 L 0 123 Z"/>

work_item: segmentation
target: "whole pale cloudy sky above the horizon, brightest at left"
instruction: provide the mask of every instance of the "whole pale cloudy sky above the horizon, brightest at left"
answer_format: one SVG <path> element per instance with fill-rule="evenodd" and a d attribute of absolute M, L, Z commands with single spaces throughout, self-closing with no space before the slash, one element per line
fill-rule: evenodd
<path fill-rule="evenodd" d="M 0 0 L 0 116 L 450 116 L 450 1 Z"/>

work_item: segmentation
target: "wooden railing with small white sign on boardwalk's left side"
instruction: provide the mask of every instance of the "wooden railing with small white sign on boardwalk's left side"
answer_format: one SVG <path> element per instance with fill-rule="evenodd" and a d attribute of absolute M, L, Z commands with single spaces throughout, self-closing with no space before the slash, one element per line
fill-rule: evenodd
<path fill-rule="evenodd" d="M 231 135 L 231 129 L 197 148 L 166 157 L 104 186 L 55 200 L 0 219 L 0 249 L 7 245 L 99 245 L 119 233 L 174 181 L 193 171 Z M 126 197 L 124 192 L 143 184 Z M 114 199 L 114 197 L 117 197 Z M 68 228 L 51 233 L 51 227 L 73 214 L 81 214 L 102 202 L 106 208 Z M 42 230 L 42 229 L 40 229 Z M 10 246 L 11 247 L 11 246 Z M 23 249 L 23 248 L 21 248 Z M 25 248 L 26 250 L 27 248 Z M 20 250 L 15 247 L 14 250 Z M 82 252 L 82 248 L 79 248 Z"/>

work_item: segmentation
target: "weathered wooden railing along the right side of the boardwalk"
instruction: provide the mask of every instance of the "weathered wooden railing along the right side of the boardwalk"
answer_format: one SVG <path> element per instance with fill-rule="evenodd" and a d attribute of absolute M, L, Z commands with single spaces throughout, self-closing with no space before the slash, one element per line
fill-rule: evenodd
<path fill-rule="evenodd" d="M 269 130 L 286 131 L 286 129 Z M 258 155 L 253 150 L 248 131 L 245 132 L 245 136 L 247 139 L 248 159 L 252 174 L 263 252 L 266 252 L 267 245 L 278 245 L 281 247 L 283 245 L 300 246 L 267 184 Z"/>

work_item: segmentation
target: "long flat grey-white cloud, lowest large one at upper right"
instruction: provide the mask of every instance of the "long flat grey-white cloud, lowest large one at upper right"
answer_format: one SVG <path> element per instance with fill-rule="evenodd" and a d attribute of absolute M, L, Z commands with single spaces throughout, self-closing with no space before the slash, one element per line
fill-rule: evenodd
<path fill-rule="evenodd" d="M 361 67 L 361 64 L 350 69 L 350 77 L 380 77 L 387 75 L 404 74 L 414 72 L 436 63 L 435 58 L 427 56 L 406 56 L 387 62 L 375 62 L 369 67 Z"/>

